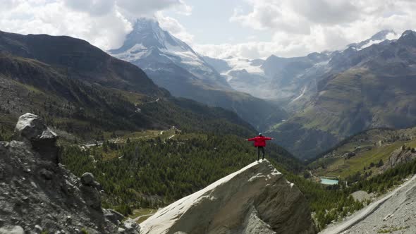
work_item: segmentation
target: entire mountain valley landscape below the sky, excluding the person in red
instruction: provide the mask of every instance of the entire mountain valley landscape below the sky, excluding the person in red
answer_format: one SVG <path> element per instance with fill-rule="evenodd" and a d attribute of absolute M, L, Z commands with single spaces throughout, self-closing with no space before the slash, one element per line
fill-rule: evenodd
<path fill-rule="evenodd" d="M 0 233 L 416 230 L 416 32 L 214 58 L 130 21 L 105 50 L 0 31 Z"/>

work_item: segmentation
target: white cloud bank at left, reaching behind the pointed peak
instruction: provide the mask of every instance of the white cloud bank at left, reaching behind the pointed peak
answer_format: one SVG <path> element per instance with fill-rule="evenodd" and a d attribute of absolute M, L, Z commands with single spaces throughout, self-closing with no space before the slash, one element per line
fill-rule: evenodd
<path fill-rule="evenodd" d="M 121 46 L 135 18 L 154 16 L 168 8 L 192 12 L 183 0 L 0 0 L 0 6 L 0 30 L 69 35 L 102 49 Z M 165 19 L 165 23 L 168 20 L 174 19 Z M 176 33 L 192 41 L 183 28 Z"/>

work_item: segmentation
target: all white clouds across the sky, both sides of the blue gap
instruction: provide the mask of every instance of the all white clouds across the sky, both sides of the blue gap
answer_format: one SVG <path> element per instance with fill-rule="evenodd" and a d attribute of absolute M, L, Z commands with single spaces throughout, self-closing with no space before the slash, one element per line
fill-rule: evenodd
<path fill-rule="evenodd" d="M 413 0 L 243 0 L 230 16 L 235 27 L 270 32 L 271 41 L 258 41 L 253 30 L 245 43 L 225 35 L 224 44 L 197 44 L 195 37 L 171 16 L 189 16 L 186 0 L 0 0 L 0 30 L 70 35 L 102 49 L 123 43 L 135 18 L 155 17 L 161 27 L 201 54 L 247 58 L 304 56 L 314 51 L 342 49 L 379 30 L 398 33 L 416 28 Z M 197 6 L 195 6 L 197 7 Z M 204 30 L 203 28 L 200 30 Z M 198 36 L 198 32 L 195 32 Z"/>

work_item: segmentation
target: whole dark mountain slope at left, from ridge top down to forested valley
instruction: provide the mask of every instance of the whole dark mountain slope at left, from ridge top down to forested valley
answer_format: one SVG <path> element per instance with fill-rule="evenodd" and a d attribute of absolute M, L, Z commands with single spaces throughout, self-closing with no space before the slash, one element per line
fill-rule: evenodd
<path fill-rule="evenodd" d="M 4 136 L 23 112 L 37 113 L 49 125 L 85 140 L 102 131 L 171 125 L 237 135 L 255 132 L 235 113 L 175 99 L 137 66 L 71 37 L 1 32 L 0 90 Z"/>

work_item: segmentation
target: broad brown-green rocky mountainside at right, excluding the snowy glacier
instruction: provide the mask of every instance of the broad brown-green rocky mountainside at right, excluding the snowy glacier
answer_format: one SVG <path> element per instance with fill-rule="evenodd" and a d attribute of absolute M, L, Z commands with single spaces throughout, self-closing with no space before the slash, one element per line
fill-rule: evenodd
<path fill-rule="evenodd" d="M 271 134 L 302 158 L 328 149 L 367 128 L 408 128 L 416 124 L 416 34 L 334 54 L 334 68 L 317 83 L 307 108 Z M 338 68 L 336 70 L 335 68 Z M 297 135 L 302 133 L 302 138 Z"/>

